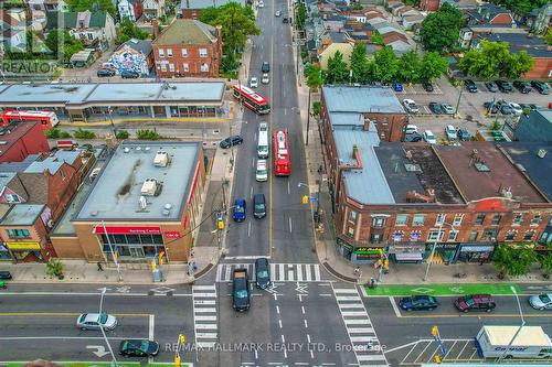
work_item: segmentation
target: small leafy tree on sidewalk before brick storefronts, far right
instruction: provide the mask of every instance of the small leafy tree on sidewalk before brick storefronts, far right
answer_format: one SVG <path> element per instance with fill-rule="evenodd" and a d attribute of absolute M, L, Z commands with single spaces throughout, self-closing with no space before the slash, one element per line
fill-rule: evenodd
<path fill-rule="evenodd" d="M 518 277 L 529 272 L 531 266 L 537 261 L 533 248 L 528 244 L 507 245 L 500 244 L 495 249 L 492 262 L 499 277 Z"/>

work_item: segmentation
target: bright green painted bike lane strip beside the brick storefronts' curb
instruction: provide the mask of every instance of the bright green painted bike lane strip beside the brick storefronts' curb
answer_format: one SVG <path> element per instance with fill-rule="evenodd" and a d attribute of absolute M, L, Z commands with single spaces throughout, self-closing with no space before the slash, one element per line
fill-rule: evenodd
<path fill-rule="evenodd" d="M 413 285 L 381 285 L 371 289 L 364 287 L 368 296 L 386 295 L 459 295 L 459 294 L 493 294 L 510 295 L 513 294 L 511 287 L 518 294 L 521 294 L 521 288 L 514 283 L 466 283 L 466 284 L 413 284 Z"/>

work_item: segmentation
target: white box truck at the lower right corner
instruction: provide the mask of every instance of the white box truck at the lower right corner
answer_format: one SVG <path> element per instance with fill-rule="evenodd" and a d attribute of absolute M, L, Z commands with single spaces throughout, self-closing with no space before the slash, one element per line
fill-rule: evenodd
<path fill-rule="evenodd" d="M 477 353 L 484 358 L 500 358 L 502 356 L 505 358 L 552 357 L 552 342 L 541 326 L 519 328 L 520 326 L 481 327 L 475 338 Z M 516 338 L 512 341 L 514 336 Z"/>

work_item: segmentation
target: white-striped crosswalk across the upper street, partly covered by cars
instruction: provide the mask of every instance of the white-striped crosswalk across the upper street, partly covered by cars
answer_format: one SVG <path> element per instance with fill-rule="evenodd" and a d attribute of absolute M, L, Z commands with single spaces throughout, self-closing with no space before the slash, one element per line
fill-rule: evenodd
<path fill-rule="evenodd" d="M 232 281 L 232 271 L 247 269 L 250 280 L 255 281 L 254 263 L 220 263 L 216 269 L 217 282 Z M 318 263 L 270 263 L 270 280 L 274 282 L 319 282 L 321 281 Z"/>

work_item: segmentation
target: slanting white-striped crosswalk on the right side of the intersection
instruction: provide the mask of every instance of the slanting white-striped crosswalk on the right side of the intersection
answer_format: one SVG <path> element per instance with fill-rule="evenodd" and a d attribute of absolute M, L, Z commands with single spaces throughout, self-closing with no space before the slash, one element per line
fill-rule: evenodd
<path fill-rule="evenodd" d="M 389 366 L 359 291 L 339 287 L 332 285 L 332 290 L 359 366 Z"/>

